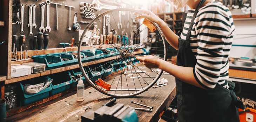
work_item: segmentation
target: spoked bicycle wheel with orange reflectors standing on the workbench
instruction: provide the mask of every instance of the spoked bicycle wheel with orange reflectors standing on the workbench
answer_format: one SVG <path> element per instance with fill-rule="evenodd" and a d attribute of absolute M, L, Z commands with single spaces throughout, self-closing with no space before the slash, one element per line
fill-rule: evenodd
<path fill-rule="evenodd" d="M 78 62 L 82 75 L 97 91 L 115 98 L 132 97 L 147 91 L 163 72 L 148 69 L 138 63 L 135 57 L 155 55 L 166 60 L 167 46 L 160 27 L 152 22 L 156 29 L 148 31 L 140 19 L 134 19 L 134 13 L 142 14 L 125 8 L 100 14 L 88 24 L 79 41 Z M 108 24 L 108 28 L 105 24 Z M 101 27 L 103 31 L 97 27 Z M 143 36 L 142 32 L 147 33 Z M 83 44 L 84 39 L 90 43 Z M 100 45 L 90 45 L 100 43 L 105 49 L 100 48 Z M 82 45 L 92 49 L 81 50 Z M 88 56 L 89 52 L 94 55 Z M 83 62 L 82 53 L 88 56 L 86 58 L 93 59 Z"/>

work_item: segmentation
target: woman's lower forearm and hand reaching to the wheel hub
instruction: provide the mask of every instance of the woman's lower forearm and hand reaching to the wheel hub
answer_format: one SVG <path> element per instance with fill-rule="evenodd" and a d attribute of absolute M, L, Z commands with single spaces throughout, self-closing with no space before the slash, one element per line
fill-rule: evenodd
<path fill-rule="evenodd" d="M 140 60 L 141 63 L 146 65 L 148 68 L 159 68 L 170 73 L 183 82 L 206 89 L 196 81 L 193 73 L 193 67 L 177 66 L 152 55 L 144 55 L 143 58 L 137 57 L 136 59 Z"/>

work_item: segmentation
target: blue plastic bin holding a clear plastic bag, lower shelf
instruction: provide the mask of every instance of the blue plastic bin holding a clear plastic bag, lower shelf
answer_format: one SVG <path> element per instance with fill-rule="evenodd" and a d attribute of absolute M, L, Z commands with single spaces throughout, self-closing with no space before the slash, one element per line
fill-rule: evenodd
<path fill-rule="evenodd" d="M 23 94 L 23 95 L 21 95 L 21 105 L 22 106 L 28 105 L 28 104 L 38 101 L 38 100 L 45 99 L 49 96 L 49 91 L 52 90 L 51 86 L 49 86 L 35 94 L 26 94 L 24 91 L 24 88 L 23 88 L 23 85 L 25 85 L 25 84 L 32 84 L 32 85 L 41 84 L 42 82 L 45 82 L 46 79 L 50 80 L 48 76 L 46 76 L 46 77 L 43 76 L 43 77 L 33 78 L 33 79 L 24 80 L 24 81 L 20 82 L 20 87 L 21 87 L 21 91 Z"/>

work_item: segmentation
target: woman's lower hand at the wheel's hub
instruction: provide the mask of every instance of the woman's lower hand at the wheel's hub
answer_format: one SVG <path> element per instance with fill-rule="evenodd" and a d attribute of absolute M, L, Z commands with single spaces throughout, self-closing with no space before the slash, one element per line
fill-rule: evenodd
<path fill-rule="evenodd" d="M 137 57 L 136 59 L 140 60 L 142 64 L 144 64 L 148 68 L 159 68 L 160 59 L 149 55 L 149 56 L 143 56 L 143 57 Z"/>

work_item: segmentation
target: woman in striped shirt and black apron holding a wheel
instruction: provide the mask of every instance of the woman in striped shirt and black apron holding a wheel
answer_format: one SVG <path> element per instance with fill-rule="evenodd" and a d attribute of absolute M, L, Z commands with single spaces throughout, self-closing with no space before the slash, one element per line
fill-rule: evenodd
<path fill-rule="evenodd" d="M 244 108 L 228 79 L 228 56 L 233 40 L 231 12 L 211 0 L 174 0 L 176 9 L 188 5 L 180 37 L 159 17 L 147 10 L 137 18 L 156 22 L 166 40 L 178 50 L 177 64 L 154 56 L 138 57 L 146 67 L 162 69 L 176 77 L 179 122 L 239 122 Z"/>

